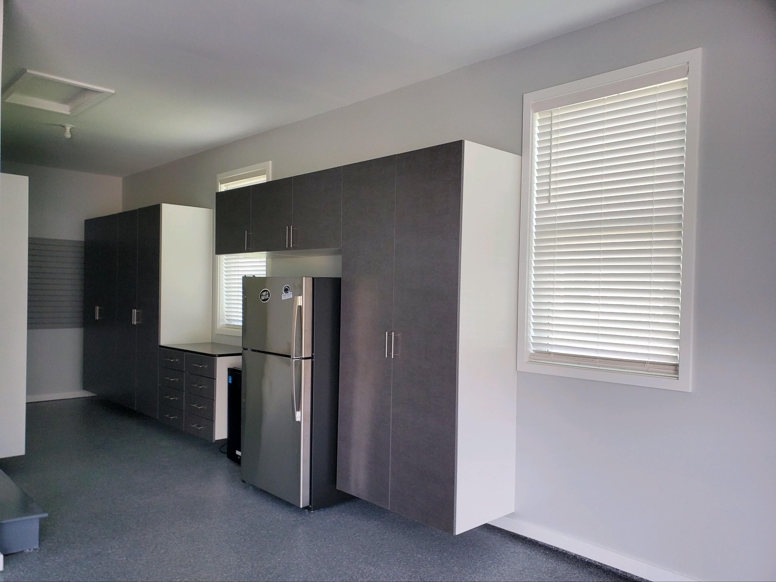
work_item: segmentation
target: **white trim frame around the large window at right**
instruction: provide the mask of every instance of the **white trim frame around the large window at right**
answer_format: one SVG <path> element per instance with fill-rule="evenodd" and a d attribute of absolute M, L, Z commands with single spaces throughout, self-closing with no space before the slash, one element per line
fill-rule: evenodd
<path fill-rule="evenodd" d="M 612 372 L 602 369 L 576 368 L 568 365 L 553 365 L 528 362 L 530 354 L 529 314 L 530 314 L 530 277 L 529 265 L 531 251 L 531 208 L 532 208 L 532 147 L 533 113 L 547 109 L 548 99 L 556 101 L 561 95 L 583 92 L 601 85 L 611 85 L 611 93 L 618 92 L 618 85 L 632 85 L 634 78 L 655 74 L 656 71 L 675 68 L 687 64 L 688 104 L 687 129 L 684 151 L 684 211 L 682 221 L 682 259 L 681 259 L 681 307 L 679 323 L 679 376 L 661 378 L 644 376 L 628 372 Z M 632 88 L 632 87 L 631 87 Z M 629 90 L 629 89 L 624 89 Z M 591 78 L 572 81 L 564 85 L 542 89 L 523 95 L 523 156 L 520 211 L 520 282 L 518 287 L 518 371 L 566 376 L 569 378 L 591 379 L 599 382 L 648 386 L 667 390 L 690 392 L 692 385 L 692 332 L 693 299 L 695 283 L 695 220 L 698 200 L 698 123 L 700 119 L 701 90 L 701 49 L 663 57 L 655 61 L 636 64 L 632 67 L 598 74 Z M 609 93 L 607 93 L 609 94 Z M 580 95 L 579 101 L 586 100 Z M 540 102 L 544 102 L 543 104 Z M 574 101 L 570 101 L 574 102 Z"/>

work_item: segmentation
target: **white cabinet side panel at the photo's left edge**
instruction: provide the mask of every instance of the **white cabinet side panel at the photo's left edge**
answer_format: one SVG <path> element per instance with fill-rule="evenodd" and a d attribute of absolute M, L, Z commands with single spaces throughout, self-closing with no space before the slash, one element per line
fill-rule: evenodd
<path fill-rule="evenodd" d="M 24 454 L 28 179 L 0 176 L 0 458 Z"/>

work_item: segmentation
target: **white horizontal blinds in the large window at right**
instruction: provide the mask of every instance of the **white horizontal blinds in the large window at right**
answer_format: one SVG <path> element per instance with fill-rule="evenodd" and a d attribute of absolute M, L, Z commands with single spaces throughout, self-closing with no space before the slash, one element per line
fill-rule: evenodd
<path fill-rule="evenodd" d="M 678 376 L 686 119 L 687 78 L 534 114 L 532 362 Z"/>

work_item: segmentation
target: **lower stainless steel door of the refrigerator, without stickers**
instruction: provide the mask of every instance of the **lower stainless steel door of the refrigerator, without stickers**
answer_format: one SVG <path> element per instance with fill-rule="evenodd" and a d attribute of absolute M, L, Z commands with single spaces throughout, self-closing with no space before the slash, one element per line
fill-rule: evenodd
<path fill-rule="evenodd" d="M 243 352 L 241 478 L 300 508 L 310 505 L 312 364 Z"/>

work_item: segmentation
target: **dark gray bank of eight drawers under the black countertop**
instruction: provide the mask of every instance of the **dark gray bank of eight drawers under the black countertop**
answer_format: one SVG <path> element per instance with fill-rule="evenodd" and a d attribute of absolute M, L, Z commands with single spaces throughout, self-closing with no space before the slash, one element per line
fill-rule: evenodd
<path fill-rule="evenodd" d="M 213 442 L 216 358 L 159 348 L 159 421 Z"/>

